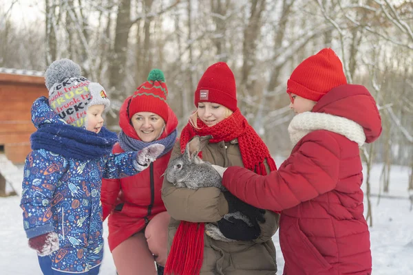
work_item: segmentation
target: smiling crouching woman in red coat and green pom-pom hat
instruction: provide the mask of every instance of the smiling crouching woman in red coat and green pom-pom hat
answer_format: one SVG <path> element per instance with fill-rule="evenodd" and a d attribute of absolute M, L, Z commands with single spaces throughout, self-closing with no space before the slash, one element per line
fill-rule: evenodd
<path fill-rule="evenodd" d="M 169 108 L 165 77 L 153 69 L 120 109 L 113 152 L 136 151 L 154 142 L 165 151 L 149 168 L 123 179 L 104 179 L 103 219 L 109 215 L 109 248 L 119 275 L 156 274 L 167 261 L 169 214 L 160 197 L 163 173 L 176 142 L 178 119 Z"/>

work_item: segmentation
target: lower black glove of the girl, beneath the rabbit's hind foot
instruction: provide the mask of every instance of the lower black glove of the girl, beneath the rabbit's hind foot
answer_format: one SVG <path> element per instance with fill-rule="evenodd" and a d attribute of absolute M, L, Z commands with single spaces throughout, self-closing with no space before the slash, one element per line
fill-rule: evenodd
<path fill-rule="evenodd" d="M 218 228 L 226 238 L 237 241 L 251 241 L 257 239 L 261 234 L 260 225 L 255 221 L 253 226 L 248 226 L 245 221 L 229 217 L 229 221 L 221 219 Z"/>

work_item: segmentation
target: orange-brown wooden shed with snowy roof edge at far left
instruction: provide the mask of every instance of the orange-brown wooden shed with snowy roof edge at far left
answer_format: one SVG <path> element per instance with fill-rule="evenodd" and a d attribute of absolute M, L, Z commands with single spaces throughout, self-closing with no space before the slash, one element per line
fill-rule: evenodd
<path fill-rule="evenodd" d="M 0 68 L 0 153 L 23 164 L 36 130 L 30 109 L 36 98 L 47 96 L 42 72 Z"/>

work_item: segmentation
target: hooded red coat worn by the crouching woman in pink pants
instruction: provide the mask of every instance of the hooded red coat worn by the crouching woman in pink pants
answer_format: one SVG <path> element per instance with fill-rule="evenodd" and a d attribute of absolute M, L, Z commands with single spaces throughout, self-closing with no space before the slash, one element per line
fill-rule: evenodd
<path fill-rule="evenodd" d="M 127 135 L 139 139 L 134 127 L 127 118 L 127 105 L 131 97 L 125 100 L 120 109 L 120 127 Z M 164 138 L 173 132 L 178 125 L 178 119 L 171 109 L 168 113 L 168 121 L 165 131 L 160 138 Z M 120 145 L 116 143 L 113 153 L 123 152 Z M 165 205 L 160 197 L 163 173 L 168 166 L 171 151 L 156 159 L 149 168 L 142 172 L 123 179 L 103 179 L 101 190 L 101 201 L 103 208 L 103 220 L 109 215 L 109 249 L 112 251 L 116 246 L 139 232 L 147 223 L 160 212 L 166 211 Z M 122 210 L 114 208 L 122 206 Z"/>

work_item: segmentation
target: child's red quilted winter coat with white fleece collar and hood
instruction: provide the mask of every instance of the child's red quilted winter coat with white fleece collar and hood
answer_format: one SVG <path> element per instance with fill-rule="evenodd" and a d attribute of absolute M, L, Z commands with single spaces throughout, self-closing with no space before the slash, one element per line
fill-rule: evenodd
<path fill-rule="evenodd" d="M 296 115 L 288 131 L 297 144 L 279 170 L 260 176 L 230 167 L 224 186 L 253 206 L 282 211 L 284 274 L 371 274 L 361 158 L 354 141 L 373 142 L 381 133 L 374 99 L 363 86 L 339 86 L 312 112 Z"/>

